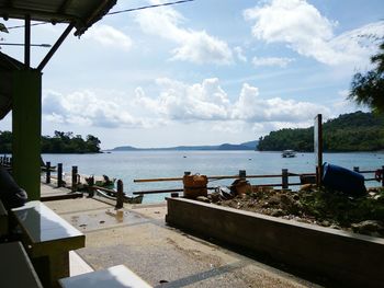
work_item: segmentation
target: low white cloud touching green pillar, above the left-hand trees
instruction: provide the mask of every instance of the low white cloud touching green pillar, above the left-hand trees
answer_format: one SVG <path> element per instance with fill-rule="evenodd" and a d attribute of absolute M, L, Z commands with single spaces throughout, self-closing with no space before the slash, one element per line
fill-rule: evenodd
<path fill-rule="evenodd" d="M 98 127 L 143 127 L 122 106 L 98 97 L 91 91 L 63 95 L 47 92 L 43 96 L 43 116 L 48 122 Z"/>

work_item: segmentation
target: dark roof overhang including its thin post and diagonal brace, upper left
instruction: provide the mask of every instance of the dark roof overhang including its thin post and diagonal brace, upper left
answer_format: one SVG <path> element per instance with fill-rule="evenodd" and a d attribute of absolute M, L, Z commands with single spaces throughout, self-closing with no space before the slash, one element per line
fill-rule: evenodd
<path fill-rule="evenodd" d="M 24 64 L 0 53 L 0 119 L 12 108 L 12 71 L 30 69 L 31 21 L 52 24 L 67 23 L 68 26 L 38 65 L 42 71 L 64 39 L 75 27 L 75 35 L 81 36 L 90 26 L 101 20 L 117 0 L 0 0 L 0 18 L 25 21 Z"/>

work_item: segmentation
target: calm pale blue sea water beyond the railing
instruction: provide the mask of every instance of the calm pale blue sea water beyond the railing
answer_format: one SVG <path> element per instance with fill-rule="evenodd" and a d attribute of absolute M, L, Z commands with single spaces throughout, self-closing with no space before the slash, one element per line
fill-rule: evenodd
<path fill-rule="evenodd" d="M 251 174 L 279 174 L 282 169 L 292 173 L 314 173 L 314 153 L 297 153 L 296 158 L 282 158 L 280 152 L 259 151 L 126 151 L 100 154 L 43 154 L 53 165 L 63 163 L 70 173 L 77 165 L 80 174 L 109 175 L 124 182 L 124 191 L 181 188 L 181 182 L 134 183 L 134 178 L 181 177 L 184 171 L 192 174 L 237 175 L 239 170 Z M 375 170 L 384 165 L 384 152 L 376 153 L 325 153 L 324 161 L 331 164 L 361 170 Z M 366 175 L 371 177 L 372 175 Z M 290 178 L 290 182 L 294 182 Z M 279 183 L 280 178 L 257 178 L 252 184 Z M 231 180 L 214 181 L 208 185 L 228 185 Z M 368 182 L 368 186 L 377 182 Z M 144 203 L 163 200 L 169 194 L 146 195 Z"/>

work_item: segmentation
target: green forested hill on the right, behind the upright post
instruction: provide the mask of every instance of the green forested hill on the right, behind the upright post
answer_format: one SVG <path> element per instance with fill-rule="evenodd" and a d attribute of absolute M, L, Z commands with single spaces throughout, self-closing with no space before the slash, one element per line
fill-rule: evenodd
<path fill-rule="evenodd" d="M 361 111 L 342 114 L 323 125 L 323 140 L 324 150 L 329 152 L 384 150 L 384 115 Z M 313 151 L 314 127 L 281 129 L 259 139 L 260 151 L 286 149 Z"/>

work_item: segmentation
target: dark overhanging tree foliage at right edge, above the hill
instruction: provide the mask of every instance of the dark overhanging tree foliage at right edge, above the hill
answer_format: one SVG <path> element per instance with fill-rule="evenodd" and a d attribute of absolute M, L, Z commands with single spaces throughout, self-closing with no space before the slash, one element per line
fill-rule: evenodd
<path fill-rule="evenodd" d="M 365 74 L 359 72 L 353 76 L 348 97 L 374 112 L 384 113 L 384 42 L 379 47 L 380 53 L 371 57 L 376 67 Z"/>

